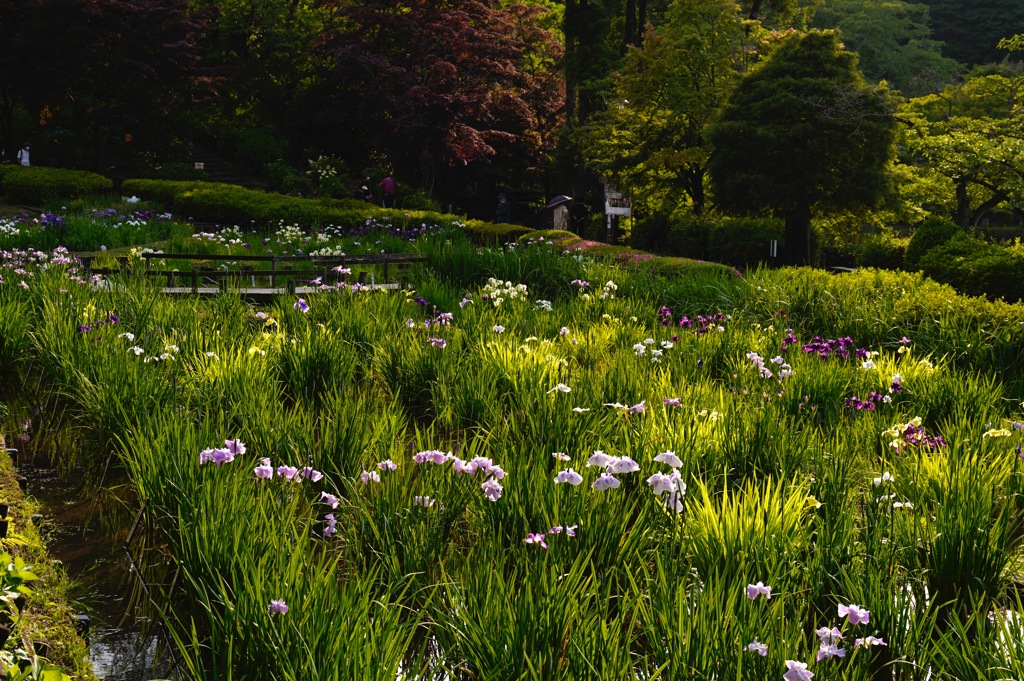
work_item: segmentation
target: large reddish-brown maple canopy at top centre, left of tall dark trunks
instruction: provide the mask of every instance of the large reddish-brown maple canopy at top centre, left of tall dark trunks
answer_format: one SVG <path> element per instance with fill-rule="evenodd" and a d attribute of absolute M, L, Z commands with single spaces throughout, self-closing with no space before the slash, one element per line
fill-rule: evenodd
<path fill-rule="evenodd" d="M 561 49 L 538 7 L 486 0 L 338 3 L 343 28 L 321 45 L 347 107 L 345 143 L 386 152 L 404 172 L 499 155 L 535 163 L 562 102 Z"/>

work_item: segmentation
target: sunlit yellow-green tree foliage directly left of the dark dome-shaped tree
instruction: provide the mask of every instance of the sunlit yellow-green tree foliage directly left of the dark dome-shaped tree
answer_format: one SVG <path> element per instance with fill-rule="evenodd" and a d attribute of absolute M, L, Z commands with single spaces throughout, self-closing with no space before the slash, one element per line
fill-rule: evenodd
<path fill-rule="evenodd" d="M 701 212 L 709 126 L 764 38 L 734 0 L 673 2 L 665 24 L 627 54 L 613 105 L 589 125 L 588 164 L 632 189 L 648 214 L 684 204 Z"/>

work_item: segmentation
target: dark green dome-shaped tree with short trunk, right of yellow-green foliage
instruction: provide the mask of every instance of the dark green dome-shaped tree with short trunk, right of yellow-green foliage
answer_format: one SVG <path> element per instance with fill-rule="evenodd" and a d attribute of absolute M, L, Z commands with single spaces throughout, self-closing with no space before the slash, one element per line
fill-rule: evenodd
<path fill-rule="evenodd" d="M 895 121 L 833 31 L 795 34 L 733 91 L 711 131 L 716 203 L 785 219 L 785 256 L 810 262 L 811 216 L 884 196 Z"/>

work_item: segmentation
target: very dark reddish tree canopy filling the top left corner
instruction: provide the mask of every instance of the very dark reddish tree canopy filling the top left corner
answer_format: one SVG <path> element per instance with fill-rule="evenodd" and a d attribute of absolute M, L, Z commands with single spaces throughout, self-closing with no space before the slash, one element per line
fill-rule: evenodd
<path fill-rule="evenodd" d="M 186 0 L 0 0 L 0 133 L 10 158 L 25 142 L 20 105 L 60 143 L 65 163 L 106 162 L 115 147 L 159 136 L 188 103 L 202 13 Z M 166 140 L 162 140 L 166 141 Z"/>

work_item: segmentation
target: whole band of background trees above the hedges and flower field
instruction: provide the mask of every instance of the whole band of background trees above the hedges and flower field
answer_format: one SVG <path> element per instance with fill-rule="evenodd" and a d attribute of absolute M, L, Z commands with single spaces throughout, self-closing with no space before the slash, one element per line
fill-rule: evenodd
<path fill-rule="evenodd" d="M 0 33 L 8 160 L 31 143 L 120 179 L 216 159 L 335 198 L 393 175 L 407 207 L 488 217 L 507 193 L 530 226 L 567 194 L 588 235 L 606 179 L 634 246 L 707 255 L 692 225 L 732 214 L 793 262 L 929 216 L 1024 221 L 1015 0 L 4 0 Z M 772 118 L 795 107 L 805 128 Z"/>

